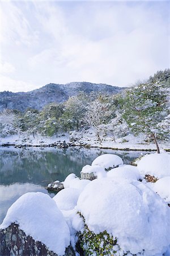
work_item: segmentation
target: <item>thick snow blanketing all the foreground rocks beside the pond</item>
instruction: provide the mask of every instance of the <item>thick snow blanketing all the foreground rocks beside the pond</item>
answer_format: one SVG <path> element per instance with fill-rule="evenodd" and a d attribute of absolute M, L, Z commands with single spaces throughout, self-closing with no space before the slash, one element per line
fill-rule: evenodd
<path fill-rule="evenodd" d="M 85 168 L 95 174 L 98 168 L 102 175 L 97 179 L 80 180 L 70 174 L 63 181 L 63 191 L 53 199 L 42 193 L 23 195 L 10 207 L 0 228 L 16 222 L 58 255 L 69 244 L 75 250 L 81 233 L 87 255 L 169 256 L 169 155 L 143 156 L 137 167 L 124 164 L 117 155 L 101 155 Z M 155 175 L 158 181 L 147 183 L 145 174 Z M 97 254 L 94 246 L 104 250 L 108 237 L 114 244 L 107 253 Z"/>

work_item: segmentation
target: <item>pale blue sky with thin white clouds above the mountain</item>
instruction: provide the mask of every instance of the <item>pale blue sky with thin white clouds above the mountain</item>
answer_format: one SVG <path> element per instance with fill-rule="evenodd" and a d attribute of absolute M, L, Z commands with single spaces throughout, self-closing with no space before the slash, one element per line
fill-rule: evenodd
<path fill-rule="evenodd" d="M 130 86 L 169 68 L 169 1 L 1 1 L 1 87 Z"/>

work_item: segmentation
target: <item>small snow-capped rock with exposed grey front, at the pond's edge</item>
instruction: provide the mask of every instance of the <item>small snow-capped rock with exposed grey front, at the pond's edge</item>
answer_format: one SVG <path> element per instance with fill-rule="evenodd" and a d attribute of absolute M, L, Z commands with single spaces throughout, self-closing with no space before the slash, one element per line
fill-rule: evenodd
<path fill-rule="evenodd" d="M 80 172 L 81 178 L 82 179 L 89 179 L 89 180 L 94 180 L 97 177 L 105 177 L 106 176 L 106 171 L 104 167 L 101 166 L 90 166 L 86 165 L 82 168 L 82 171 Z"/>

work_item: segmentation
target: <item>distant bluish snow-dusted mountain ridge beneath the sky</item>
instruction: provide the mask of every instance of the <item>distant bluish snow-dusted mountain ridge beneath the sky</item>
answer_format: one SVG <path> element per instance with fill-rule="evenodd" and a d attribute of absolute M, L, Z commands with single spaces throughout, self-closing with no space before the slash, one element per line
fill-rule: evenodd
<path fill-rule="evenodd" d="M 104 94 L 116 94 L 125 88 L 107 84 L 92 84 L 91 82 L 70 82 L 69 84 L 47 84 L 40 89 L 31 92 L 0 92 L 0 111 L 3 109 L 18 109 L 24 111 L 27 108 L 40 110 L 50 102 L 62 103 L 70 96 L 84 93 L 101 92 Z"/>

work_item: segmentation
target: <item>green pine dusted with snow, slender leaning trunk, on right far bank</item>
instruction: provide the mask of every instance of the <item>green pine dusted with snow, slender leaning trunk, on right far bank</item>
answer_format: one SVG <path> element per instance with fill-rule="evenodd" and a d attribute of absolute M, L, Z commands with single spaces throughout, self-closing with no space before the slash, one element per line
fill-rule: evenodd
<path fill-rule="evenodd" d="M 135 134 L 142 132 L 150 135 L 154 139 L 158 153 L 160 151 L 157 138 L 163 133 L 158 123 L 167 116 L 167 102 L 162 82 L 155 81 L 127 89 L 122 100 L 122 116 L 131 130 Z"/>

